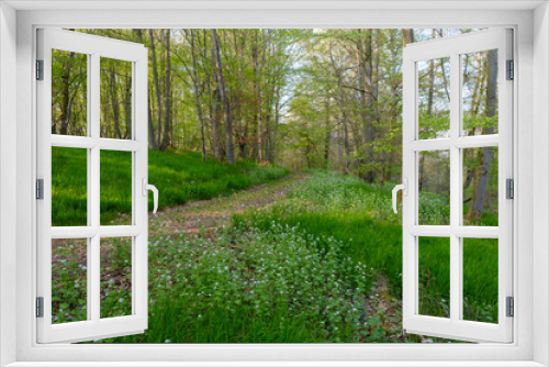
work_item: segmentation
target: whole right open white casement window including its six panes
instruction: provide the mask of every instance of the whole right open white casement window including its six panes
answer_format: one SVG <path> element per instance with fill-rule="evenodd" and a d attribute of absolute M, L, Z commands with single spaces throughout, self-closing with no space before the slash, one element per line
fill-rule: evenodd
<path fill-rule="evenodd" d="M 503 29 L 404 48 L 407 333 L 513 341 L 511 59 L 512 31 Z"/>

